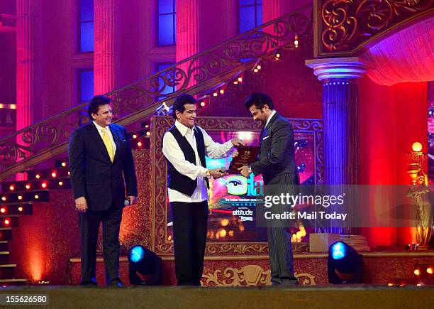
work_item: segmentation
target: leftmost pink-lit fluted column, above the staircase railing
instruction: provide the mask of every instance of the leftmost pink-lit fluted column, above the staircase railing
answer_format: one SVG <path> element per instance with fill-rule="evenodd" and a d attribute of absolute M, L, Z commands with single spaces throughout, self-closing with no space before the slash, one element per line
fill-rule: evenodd
<path fill-rule="evenodd" d="M 35 106 L 35 3 L 37 0 L 16 1 L 16 130 L 33 122 Z M 18 141 L 20 143 L 20 141 Z"/>

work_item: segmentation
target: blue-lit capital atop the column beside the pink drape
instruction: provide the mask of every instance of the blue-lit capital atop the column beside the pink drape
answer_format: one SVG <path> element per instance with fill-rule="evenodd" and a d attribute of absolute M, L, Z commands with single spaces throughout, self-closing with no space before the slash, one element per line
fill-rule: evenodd
<path fill-rule="evenodd" d="M 359 78 L 365 75 L 367 63 L 359 57 L 321 58 L 305 60 L 318 80 L 330 78 Z"/>

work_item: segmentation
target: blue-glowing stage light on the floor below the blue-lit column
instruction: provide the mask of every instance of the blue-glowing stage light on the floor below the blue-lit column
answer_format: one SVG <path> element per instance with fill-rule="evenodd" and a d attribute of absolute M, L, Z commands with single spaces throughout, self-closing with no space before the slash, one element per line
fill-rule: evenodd
<path fill-rule="evenodd" d="M 363 256 L 345 242 L 328 247 L 328 282 L 333 284 L 362 283 Z"/>

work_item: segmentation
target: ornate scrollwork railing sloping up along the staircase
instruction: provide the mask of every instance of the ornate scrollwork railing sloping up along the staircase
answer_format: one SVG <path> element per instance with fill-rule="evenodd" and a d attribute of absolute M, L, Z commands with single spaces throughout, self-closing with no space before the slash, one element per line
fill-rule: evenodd
<path fill-rule="evenodd" d="M 113 99 L 115 122 L 127 125 L 143 120 L 163 101 L 169 105 L 179 94 L 206 92 L 277 48 L 294 47 L 295 35 L 303 38 L 313 32 L 312 9 L 312 4 L 304 6 L 109 92 L 106 95 Z M 71 132 L 89 121 L 87 105 L 78 104 L 0 139 L 0 180 L 67 151 Z"/>

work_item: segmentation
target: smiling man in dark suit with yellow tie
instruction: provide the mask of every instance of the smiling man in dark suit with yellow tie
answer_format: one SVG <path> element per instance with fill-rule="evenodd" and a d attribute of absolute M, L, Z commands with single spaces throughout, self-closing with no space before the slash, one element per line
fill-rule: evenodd
<path fill-rule="evenodd" d="M 102 95 L 91 99 L 88 113 L 93 121 L 75 130 L 69 141 L 70 179 L 79 211 L 81 285 L 97 284 L 96 242 L 102 222 L 106 282 L 122 286 L 119 227 L 123 206 L 133 205 L 137 199 L 137 180 L 126 129 L 111 123 L 110 103 Z"/>

